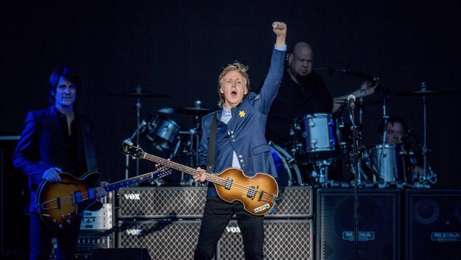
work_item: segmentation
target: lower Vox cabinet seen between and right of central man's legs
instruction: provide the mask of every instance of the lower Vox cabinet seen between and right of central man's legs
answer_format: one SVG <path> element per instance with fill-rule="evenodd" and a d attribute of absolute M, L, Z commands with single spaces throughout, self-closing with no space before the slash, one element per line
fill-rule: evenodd
<path fill-rule="evenodd" d="M 265 220 L 264 259 L 313 259 L 312 220 Z M 231 220 L 218 242 L 218 260 L 244 259 L 243 239 Z"/>

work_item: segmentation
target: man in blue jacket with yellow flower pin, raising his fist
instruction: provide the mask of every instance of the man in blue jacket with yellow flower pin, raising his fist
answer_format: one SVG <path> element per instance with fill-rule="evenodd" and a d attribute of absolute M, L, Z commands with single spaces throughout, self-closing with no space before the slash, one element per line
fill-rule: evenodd
<path fill-rule="evenodd" d="M 216 117 L 216 160 L 213 172 L 220 172 L 230 166 L 243 169 L 246 175 L 257 172 L 270 173 L 277 178 L 270 146 L 265 139 L 267 113 L 277 96 L 282 81 L 285 52 L 287 45 L 287 26 L 285 23 L 272 23 L 277 39 L 270 70 L 266 76 L 260 94 L 250 92 L 248 67 L 235 62 L 224 68 L 218 77 L 218 105 L 222 109 L 205 116 L 201 121 L 199 165 L 207 164 L 211 122 Z M 210 151 L 213 153 L 214 151 Z M 205 180 L 205 170 L 195 177 L 196 181 Z M 228 203 L 218 197 L 213 184 L 209 185 L 204 217 L 201 222 L 199 242 L 195 249 L 195 259 L 211 259 L 216 253 L 216 244 L 226 228 L 230 217 L 236 215 L 243 236 L 245 259 L 262 259 L 264 240 L 263 217 L 251 215 L 243 209 L 240 202 Z"/>

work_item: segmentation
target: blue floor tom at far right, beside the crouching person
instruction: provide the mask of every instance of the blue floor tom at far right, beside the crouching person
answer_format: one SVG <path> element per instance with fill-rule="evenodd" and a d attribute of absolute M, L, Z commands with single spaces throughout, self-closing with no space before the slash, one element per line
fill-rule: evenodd
<path fill-rule="evenodd" d="M 376 166 L 379 177 L 385 182 L 403 181 L 404 176 L 403 161 L 400 154 L 400 146 L 395 144 L 377 144 L 372 149 L 372 159 Z"/>

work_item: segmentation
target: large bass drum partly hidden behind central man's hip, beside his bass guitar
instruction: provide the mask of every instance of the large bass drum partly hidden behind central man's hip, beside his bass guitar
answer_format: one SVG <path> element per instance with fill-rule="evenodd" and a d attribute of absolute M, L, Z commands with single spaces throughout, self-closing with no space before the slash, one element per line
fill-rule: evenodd
<path fill-rule="evenodd" d="M 277 178 L 279 186 L 303 185 L 301 172 L 296 165 L 294 157 L 275 143 L 270 142 L 269 145 L 271 147 L 270 153 L 272 153 L 275 168 L 277 169 L 277 175 L 279 175 L 279 178 Z"/>

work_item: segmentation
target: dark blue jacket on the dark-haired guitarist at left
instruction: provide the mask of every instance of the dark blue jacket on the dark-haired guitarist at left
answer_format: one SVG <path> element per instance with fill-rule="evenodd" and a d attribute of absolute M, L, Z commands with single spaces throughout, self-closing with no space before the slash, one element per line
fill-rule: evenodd
<path fill-rule="evenodd" d="M 96 151 L 90 135 L 89 121 L 80 115 L 76 116 L 79 118 L 87 170 L 97 170 Z M 68 157 L 64 138 L 54 105 L 27 114 L 21 139 L 13 154 L 13 165 L 21 168 L 23 173 L 29 176 L 29 212 L 35 212 L 36 190 L 45 170 L 52 167 L 59 167 L 64 171 L 67 169 Z"/>

